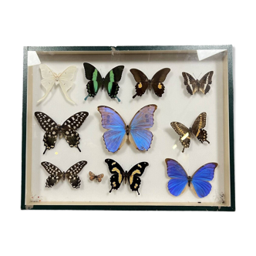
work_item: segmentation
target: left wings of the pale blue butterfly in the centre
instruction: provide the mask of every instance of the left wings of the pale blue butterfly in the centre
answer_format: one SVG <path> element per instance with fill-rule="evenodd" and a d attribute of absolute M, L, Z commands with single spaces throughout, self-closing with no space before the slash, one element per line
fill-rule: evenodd
<path fill-rule="evenodd" d="M 114 153 L 123 146 L 127 139 L 126 123 L 120 114 L 109 106 L 98 106 L 98 110 L 101 114 L 103 128 L 108 129 L 103 134 L 106 149 Z"/>

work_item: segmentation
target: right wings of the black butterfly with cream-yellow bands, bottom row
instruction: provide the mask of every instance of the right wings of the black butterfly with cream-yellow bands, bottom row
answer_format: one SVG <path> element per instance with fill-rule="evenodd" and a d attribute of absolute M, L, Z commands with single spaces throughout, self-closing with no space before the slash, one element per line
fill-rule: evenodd
<path fill-rule="evenodd" d="M 147 162 L 137 163 L 132 169 L 127 173 L 127 179 L 130 184 L 130 189 L 139 193 L 139 187 L 141 184 L 140 176 L 144 173 L 145 168 L 149 165 Z"/>

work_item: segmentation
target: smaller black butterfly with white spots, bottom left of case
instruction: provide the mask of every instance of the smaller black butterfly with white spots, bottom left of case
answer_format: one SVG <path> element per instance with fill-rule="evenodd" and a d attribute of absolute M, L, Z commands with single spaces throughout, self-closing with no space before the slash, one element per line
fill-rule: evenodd
<path fill-rule="evenodd" d="M 66 172 L 62 172 L 56 167 L 54 164 L 49 162 L 42 162 L 42 167 L 45 168 L 47 173 L 49 173 L 49 177 L 46 179 L 45 187 L 53 187 L 59 180 L 65 180 L 65 178 L 69 181 L 73 188 L 79 188 L 81 184 L 81 180 L 77 175 L 83 167 L 86 165 L 86 161 L 80 161 L 72 165 Z"/>

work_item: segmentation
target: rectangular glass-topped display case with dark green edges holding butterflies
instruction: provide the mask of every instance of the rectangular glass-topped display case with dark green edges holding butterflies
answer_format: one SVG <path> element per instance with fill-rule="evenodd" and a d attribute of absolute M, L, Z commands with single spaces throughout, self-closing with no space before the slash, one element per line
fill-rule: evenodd
<path fill-rule="evenodd" d="M 228 44 L 24 46 L 22 210 L 235 211 L 233 47 Z M 83 63 L 96 68 L 93 71 L 87 70 L 92 73 L 92 87 L 88 86 L 90 79 L 89 75 L 86 76 L 86 66 Z M 74 68 L 70 71 L 73 72 L 72 76 L 65 78 L 71 81 L 69 84 L 65 81 L 51 82 L 53 72 L 60 77 L 70 66 L 76 66 L 76 70 Z M 116 66 L 124 66 L 121 75 L 116 75 L 116 70 L 113 69 Z M 162 75 L 154 76 L 159 70 L 166 68 L 170 72 L 164 75 L 164 79 Z M 148 80 L 145 78 L 145 83 L 136 81 L 139 75 L 136 78 L 130 69 L 140 69 Z M 66 71 L 66 76 L 69 75 L 68 72 Z M 185 75 L 185 72 L 190 75 Z M 212 72 L 211 77 L 209 72 Z M 99 73 L 102 78 L 105 77 L 105 82 L 96 79 L 97 76 L 99 78 Z M 208 76 L 205 76 L 207 73 Z M 115 80 L 117 76 L 118 82 Z M 109 80 L 106 83 L 107 77 Z M 43 79 L 51 88 L 43 85 Z M 103 83 L 105 86 L 101 89 Z M 118 94 L 111 98 L 108 86 L 116 83 L 119 87 L 116 89 Z M 147 83 L 149 86 L 145 93 L 133 98 L 136 91 Z M 159 89 L 163 89 L 164 85 L 161 96 L 157 95 L 153 83 Z M 96 89 L 96 86 L 99 86 L 96 96 L 86 98 L 91 93 L 88 89 Z M 46 91 L 48 94 L 45 96 Z M 43 96 L 45 98 L 42 99 Z M 42 100 L 39 101 L 40 99 Z M 148 105 L 157 106 L 152 113 L 153 124 L 150 128 L 143 127 L 153 134 L 150 147 L 138 150 L 136 141 L 131 141 L 135 140 L 133 137 L 122 143 L 122 147 L 116 152 L 109 152 L 106 140 L 115 143 L 115 138 L 103 138 L 106 126 L 103 127 L 104 116 L 100 113 L 99 106 L 114 109 L 126 125 L 130 124 L 128 132 L 125 132 L 128 135 L 135 123 L 130 123 L 136 118 L 133 116 Z M 43 116 L 36 113 L 47 115 L 45 123 L 48 122 L 49 131 L 43 127 Z M 77 129 L 72 133 L 79 144 L 75 142 L 72 145 L 70 137 L 66 137 L 67 133 L 72 132 L 67 125 L 70 120 L 76 119 L 76 116 L 69 119 L 76 113 L 88 113 L 88 116 L 79 116 L 83 124 L 77 124 Z M 202 116 L 202 113 L 206 116 Z M 197 117 L 201 119 L 197 120 Z M 79 118 L 77 117 L 75 126 Z M 173 129 L 170 125 L 172 122 L 187 126 L 184 136 Z M 58 129 L 62 130 L 62 138 L 59 138 L 57 130 L 56 136 L 53 136 L 57 124 L 61 127 Z M 193 131 L 193 127 L 196 131 Z M 207 141 L 204 140 L 204 143 L 198 138 L 202 130 L 207 131 Z M 54 140 L 51 142 L 53 147 L 49 144 L 49 133 Z M 188 140 L 189 147 L 184 148 L 184 141 Z M 45 143 L 48 143 L 49 148 Z M 78 145 L 79 148 L 76 147 Z M 149 163 L 147 167 L 143 167 L 143 174 L 140 173 L 140 194 L 132 189 L 131 176 L 127 177 L 126 184 L 124 181 L 120 184 L 118 190 L 113 187 L 115 184 L 110 180 L 115 173 L 110 173 L 111 166 L 106 163 L 106 159 L 112 159 L 112 164 L 119 163 L 124 171 L 140 166 L 140 163 Z M 171 193 L 168 184 L 173 177 L 167 172 L 166 159 L 180 163 L 187 172 L 187 177 L 190 177 L 186 183 L 188 189 L 181 188 L 184 192 L 182 194 Z M 77 174 L 80 179 L 79 188 L 69 184 L 69 175 L 66 173 L 58 177 L 60 180 L 53 187 L 47 186 L 47 180 L 51 178 L 47 168 L 55 171 L 54 168 L 58 167 L 62 172 L 70 172 L 69 167 L 79 161 L 87 162 Z M 51 163 L 52 166 L 46 167 L 41 163 Z M 206 163 L 217 163 L 217 167 L 214 167 L 214 177 L 204 181 L 211 184 L 210 191 L 200 197 L 194 173 Z M 97 179 L 90 179 L 92 176 L 89 172 L 96 175 L 103 173 L 104 176 L 99 182 Z M 116 174 L 119 175 L 117 181 L 119 178 L 119 181 L 122 180 L 120 172 Z M 136 173 L 133 174 L 134 179 L 138 177 Z M 66 177 L 67 181 L 62 180 L 62 177 Z M 193 177 L 194 186 L 191 185 Z M 123 180 L 125 179 L 123 176 Z"/>

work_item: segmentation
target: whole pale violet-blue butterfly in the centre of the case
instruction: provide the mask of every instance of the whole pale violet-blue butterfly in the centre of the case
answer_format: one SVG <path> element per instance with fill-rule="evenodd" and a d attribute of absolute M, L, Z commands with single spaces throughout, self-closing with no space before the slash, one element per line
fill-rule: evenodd
<path fill-rule="evenodd" d="M 128 126 L 116 110 L 109 106 L 98 106 L 102 126 L 107 129 L 103 134 L 106 149 L 114 153 L 120 150 L 128 138 L 137 150 L 149 150 L 153 134 L 148 129 L 153 126 L 153 113 L 156 109 L 157 105 L 153 104 L 143 106 Z"/>

